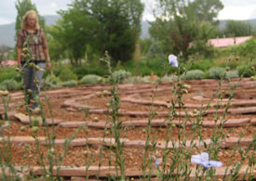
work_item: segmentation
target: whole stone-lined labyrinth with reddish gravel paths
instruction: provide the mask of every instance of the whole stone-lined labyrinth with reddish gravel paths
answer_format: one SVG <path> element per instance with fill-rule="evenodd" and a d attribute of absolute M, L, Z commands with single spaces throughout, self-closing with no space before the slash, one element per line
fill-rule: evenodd
<path fill-rule="evenodd" d="M 177 83 L 119 84 L 117 114 L 109 84 L 43 91 L 44 114 L 32 117 L 22 104 L 23 93 L 10 93 L 8 109 L 4 99 L 0 104 L 1 162 L 11 154 L 22 178 L 118 180 L 124 174 L 127 180 L 256 179 L 256 82 L 200 80 L 183 85 L 179 97 Z M 38 130 L 30 125 L 35 118 Z M 48 161 L 65 152 L 61 162 Z M 204 170 L 191 163 L 191 156 L 201 152 L 209 152 L 222 167 Z M 162 159 L 156 167 L 154 157 Z M 8 175 L 9 170 L 1 173 Z"/>

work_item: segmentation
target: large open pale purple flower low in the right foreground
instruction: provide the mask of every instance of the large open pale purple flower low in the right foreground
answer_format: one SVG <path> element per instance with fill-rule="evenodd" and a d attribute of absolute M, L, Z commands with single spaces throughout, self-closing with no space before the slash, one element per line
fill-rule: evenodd
<path fill-rule="evenodd" d="M 222 162 L 209 161 L 209 153 L 207 152 L 202 152 L 201 154 L 193 155 L 191 157 L 191 162 L 195 164 L 200 164 L 205 169 L 208 169 L 210 167 L 222 167 Z"/>

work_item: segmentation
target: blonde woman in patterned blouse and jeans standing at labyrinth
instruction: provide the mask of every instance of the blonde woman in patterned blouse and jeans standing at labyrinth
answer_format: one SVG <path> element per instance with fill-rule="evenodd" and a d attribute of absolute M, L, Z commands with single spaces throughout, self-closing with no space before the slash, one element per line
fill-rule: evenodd
<path fill-rule="evenodd" d="M 22 52 L 28 37 L 31 37 L 27 44 L 31 52 L 31 58 L 29 59 L 24 58 L 24 51 Z M 38 110 L 39 100 L 35 101 L 35 97 L 39 97 L 41 81 L 44 75 L 43 70 L 46 65 L 47 69 L 50 69 L 50 58 L 45 32 L 39 27 L 37 14 L 34 10 L 26 12 L 23 16 L 16 46 L 18 64 L 23 68 L 24 72 L 25 101 L 28 105 L 31 105 L 31 110 Z M 30 64 L 30 62 L 34 62 L 40 69 L 34 69 L 34 66 L 31 66 L 34 64 Z"/>

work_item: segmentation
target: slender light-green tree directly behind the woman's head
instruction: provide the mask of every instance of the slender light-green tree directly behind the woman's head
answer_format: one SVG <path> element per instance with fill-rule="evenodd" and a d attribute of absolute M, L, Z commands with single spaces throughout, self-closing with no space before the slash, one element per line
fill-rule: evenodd
<path fill-rule="evenodd" d="M 45 19 L 41 17 L 38 14 L 38 11 L 36 9 L 36 6 L 31 2 L 31 0 L 18 0 L 15 3 L 16 9 L 17 9 L 17 17 L 16 17 L 16 24 L 15 24 L 15 39 L 17 37 L 18 32 L 20 31 L 22 17 L 25 15 L 25 13 L 29 10 L 34 10 L 38 15 L 39 25 L 42 28 L 45 28 Z"/>

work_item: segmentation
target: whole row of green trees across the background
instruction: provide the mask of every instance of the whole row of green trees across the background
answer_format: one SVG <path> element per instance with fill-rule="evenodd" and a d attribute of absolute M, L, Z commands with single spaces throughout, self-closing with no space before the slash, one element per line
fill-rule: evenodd
<path fill-rule="evenodd" d="M 16 8 L 19 31 L 25 12 L 37 9 L 31 0 L 17 0 Z M 209 38 L 255 32 L 249 23 L 236 20 L 219 30 L 217 16 L 222 8 L 221 0 L 156 0 L 147 44 L 186 59 L 195 52 L 207 56 Z M 61 19 L 57 24 L 46 28 L 52 59 L 69 58 L 72 64 L 79 64 L 82 59 L 101 58 L 105 51 L 114 64 L 132 59 L 140 41 L 143 10 L 141 0 L 74 0 L 67 10 L 58 12 Z M 40 15 L 39 22 L 46 27 Z"/>

